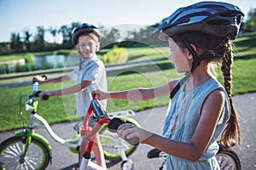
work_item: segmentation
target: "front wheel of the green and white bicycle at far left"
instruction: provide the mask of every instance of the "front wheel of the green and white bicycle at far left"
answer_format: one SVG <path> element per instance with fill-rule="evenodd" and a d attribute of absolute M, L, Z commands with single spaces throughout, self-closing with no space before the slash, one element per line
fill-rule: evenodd
<path fill-rule="evenodd" d="M 24 161 L 20 161 L 25 140 L 22 137 L 11 137 L 0 145 L 1 169 L 45 169 L 49 164 L 49 151 L 38 139 L 32 139 Z"/>

